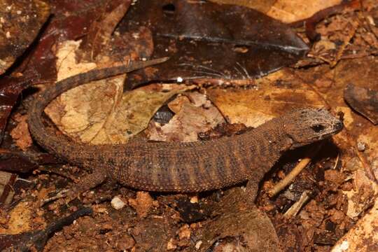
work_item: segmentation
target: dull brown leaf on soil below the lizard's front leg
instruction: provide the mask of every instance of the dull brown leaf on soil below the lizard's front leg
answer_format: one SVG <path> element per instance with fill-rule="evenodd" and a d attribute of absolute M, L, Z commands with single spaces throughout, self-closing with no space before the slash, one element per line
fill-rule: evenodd
<path fill-rule="evenodd" d="M 236 242 L 228 241 L 221 244 L 220 251 L 227 251 L 222 250 L 222 247 L 234 248 L 236 251 L 281 251 L 269 218 L 251 202 L 246 202 L 248 195 L 240 188 L 235 188 L 223 197 L 219 203 L 219 211 L 223 214 L 203 228 L 204 243 L 200 251 L 208 251 L 212 246 L 219 246 L 217 244 L 223 239 Z"/>

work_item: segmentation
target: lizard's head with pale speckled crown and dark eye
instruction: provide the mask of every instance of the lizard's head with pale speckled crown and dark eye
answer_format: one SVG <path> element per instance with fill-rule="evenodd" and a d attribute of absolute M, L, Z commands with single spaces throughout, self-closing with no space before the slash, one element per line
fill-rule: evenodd
<path fill-rule="evenodd" d="M 343 123 L 325 109 L 298 109 L 283 116 L 283 130 L 297 148 L 340 132 Z"/>

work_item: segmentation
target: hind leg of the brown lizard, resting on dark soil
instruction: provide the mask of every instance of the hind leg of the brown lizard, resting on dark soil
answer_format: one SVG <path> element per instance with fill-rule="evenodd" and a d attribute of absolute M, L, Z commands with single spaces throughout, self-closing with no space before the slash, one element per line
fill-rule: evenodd
<path fill-rule="evenodd" d="M 82 193 L 99 186 L 106 180 L 107 174 L 104 169 L 94 168 L 91 174 L 83 176 L 73 188 L 66 193 L 66 203 L 71 202 Z"/>

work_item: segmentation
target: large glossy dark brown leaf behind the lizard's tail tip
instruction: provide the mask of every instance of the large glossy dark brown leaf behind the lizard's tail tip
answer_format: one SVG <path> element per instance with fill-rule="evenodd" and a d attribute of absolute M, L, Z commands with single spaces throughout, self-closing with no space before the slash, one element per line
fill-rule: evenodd
<path fill-rule="evenodd" d="M 140 25 L 151 29 L 153 55 L 171 57 L 156 66 L 162 80 L 249 80 L 293 64 L 308 50 L 290 27 L 244 6 L 142 0 L 130 8 L 125 22 L 129 31 Z M 133 74 L 130 80 L 139 83 Z"/>

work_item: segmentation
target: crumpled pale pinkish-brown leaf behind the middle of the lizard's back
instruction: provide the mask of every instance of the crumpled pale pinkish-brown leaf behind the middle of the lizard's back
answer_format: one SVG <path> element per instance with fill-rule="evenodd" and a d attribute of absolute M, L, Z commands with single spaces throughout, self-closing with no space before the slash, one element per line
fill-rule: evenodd
<path fill-rule="evenodd" d="M 198 133 L 206 132 L 225 120 L 218 109 L 204 99 L 204 94 L 192 93 L 194 103 L 189 99 L 177 98 L 173 101 L 172 110 L 176 115 L 165 125 L 151 123 L 148 127 L 150 140 L 155 141 L 197 141 Z"/>

